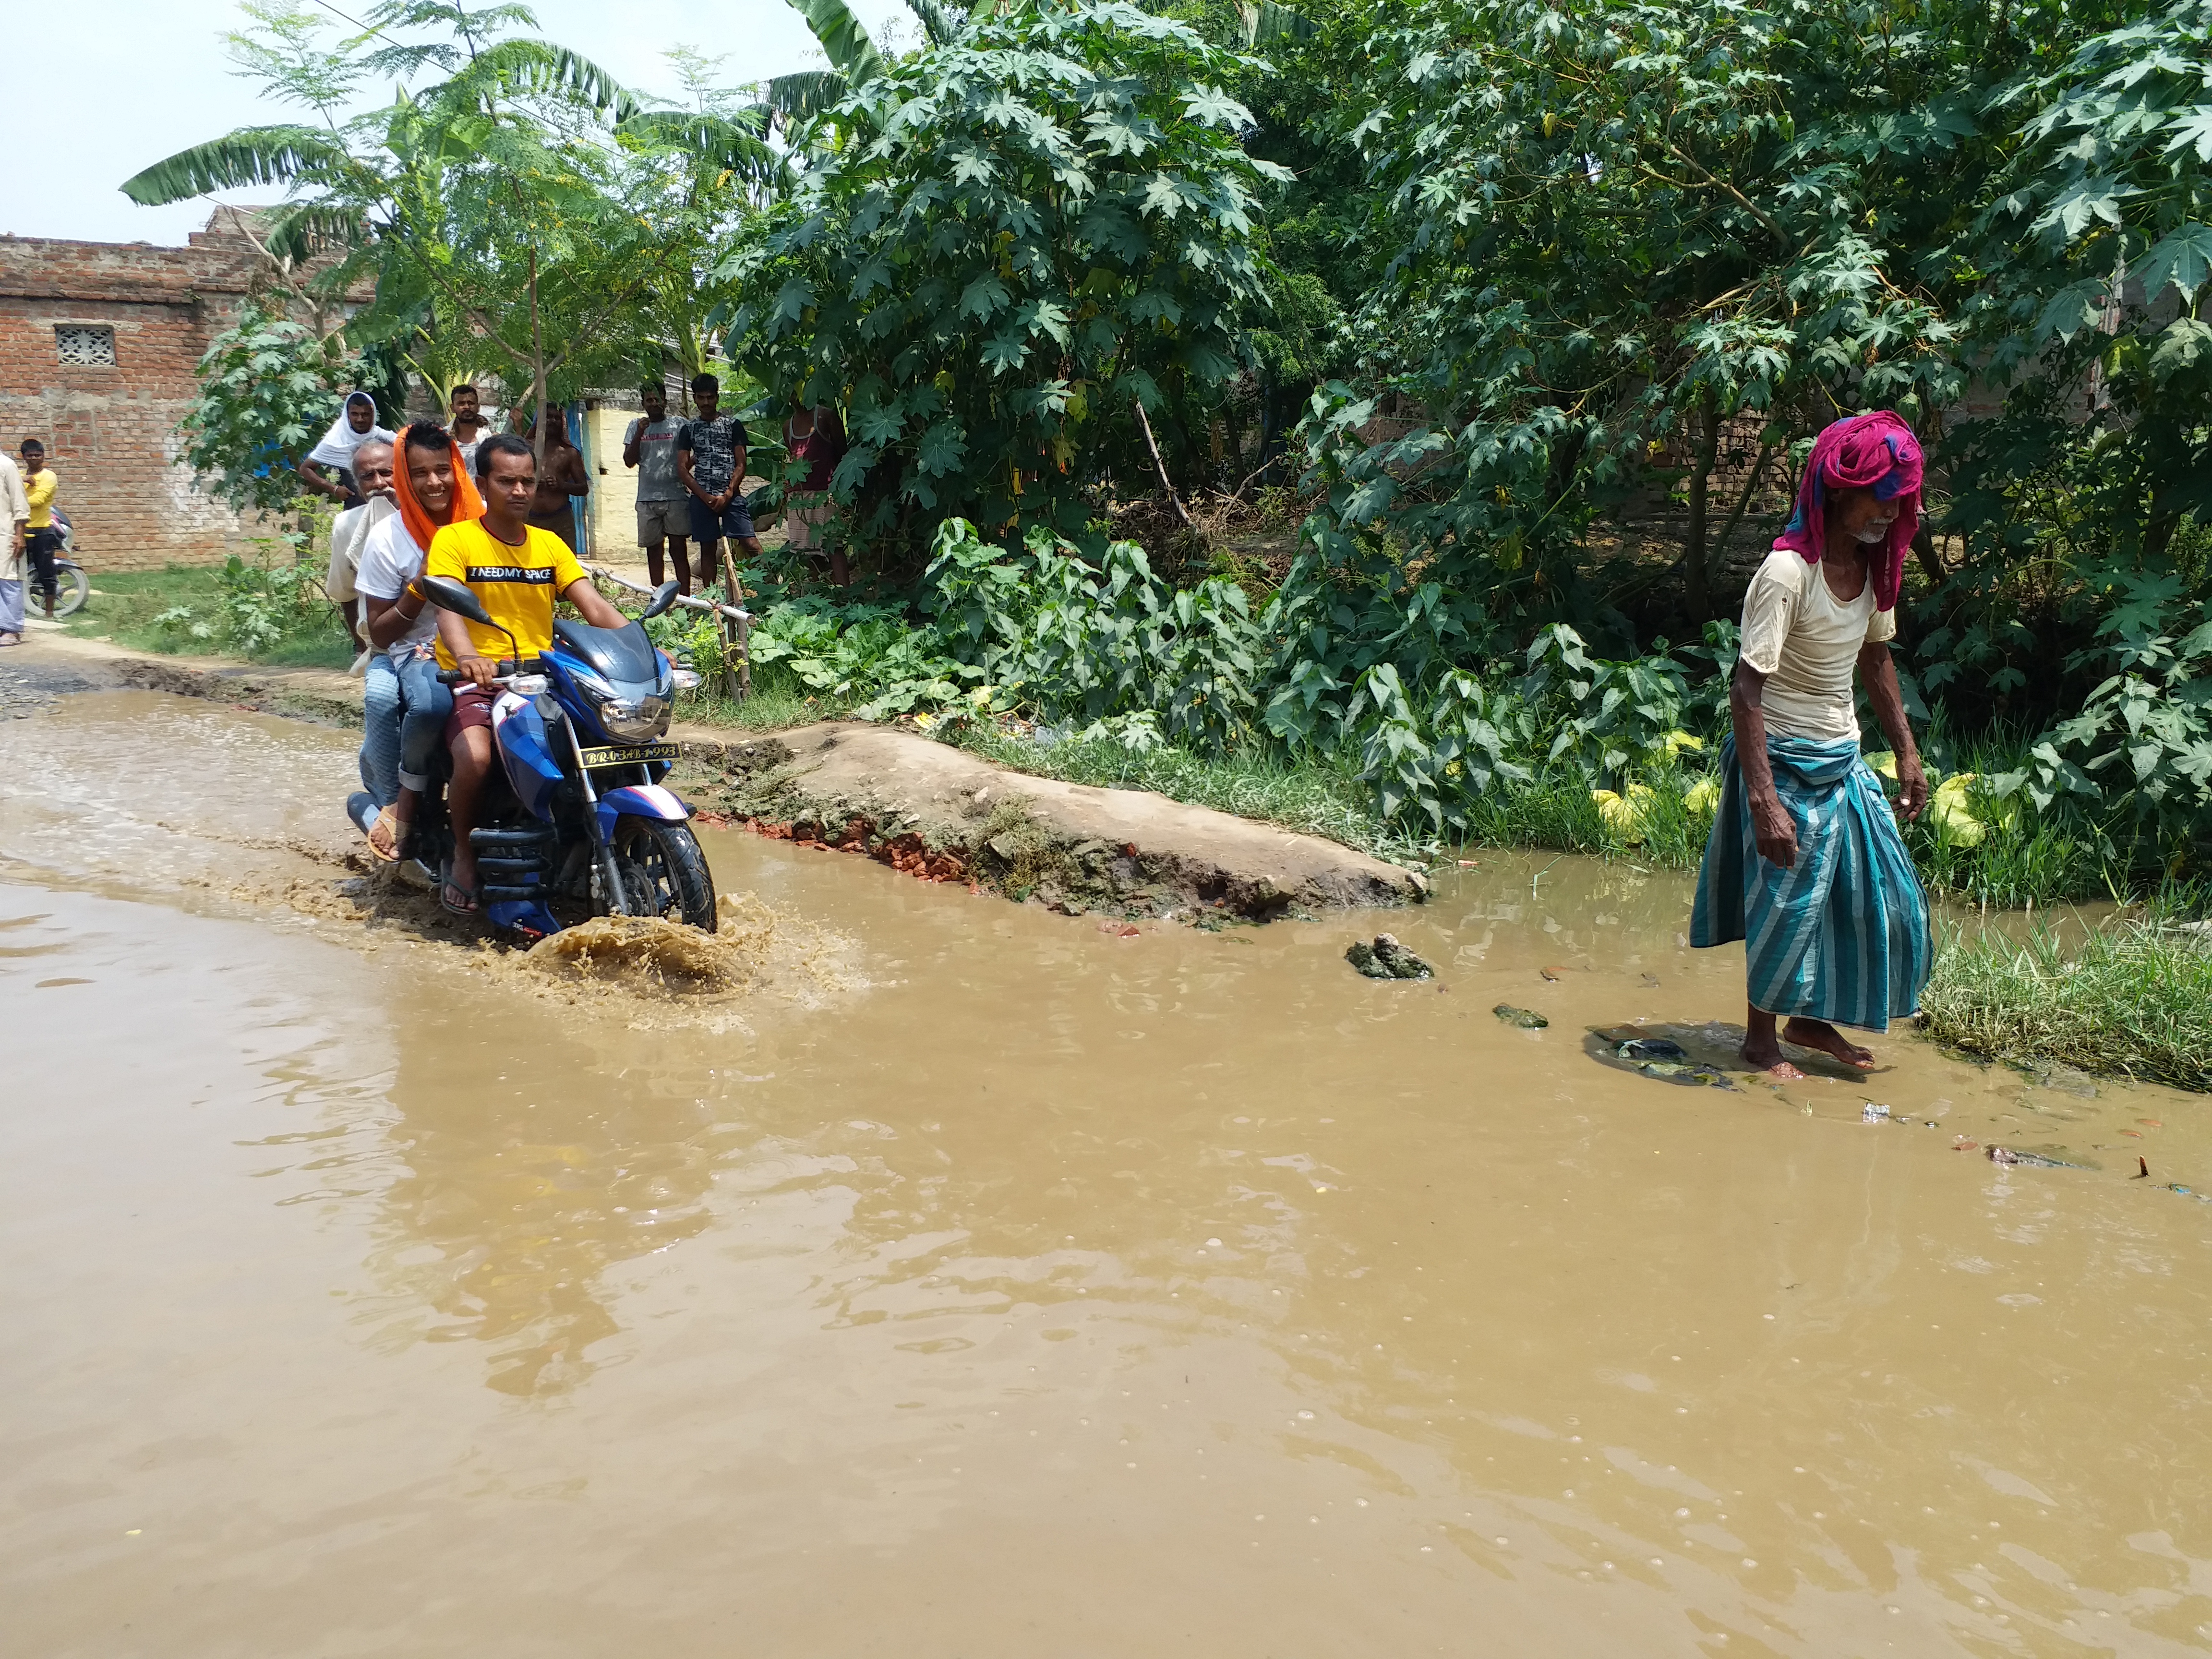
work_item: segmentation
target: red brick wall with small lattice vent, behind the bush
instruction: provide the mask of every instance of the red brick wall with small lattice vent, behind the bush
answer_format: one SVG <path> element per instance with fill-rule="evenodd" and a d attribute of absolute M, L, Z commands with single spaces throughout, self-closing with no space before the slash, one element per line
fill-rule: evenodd
<path fill-rule="evenodd" d="M 42 438 L 60 507 L 95 571 L 212 564 L 248 551 L 241 522 L 177 465 L 195 365 L 257 276 L 239 234 L 190 248 L 0 237 L 0 445 Z M 58 323 L 115 330 L 115 367 L 62 363 Z"/>

